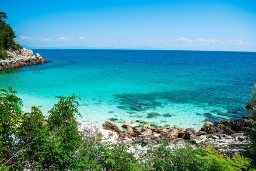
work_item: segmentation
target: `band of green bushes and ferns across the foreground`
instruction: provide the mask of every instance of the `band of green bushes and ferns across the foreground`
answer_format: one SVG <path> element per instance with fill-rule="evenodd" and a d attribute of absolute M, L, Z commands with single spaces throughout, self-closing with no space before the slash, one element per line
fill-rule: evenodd
<path fill-rule="evenodd" d="M 146 153 L 102 141 L 97 130 L 79 130 L 78 96 L 60 101 L 43 116 L 39 107 L 22 112 L 17 92 L 0 90 L 0 170 L 85 171 L 246 171 L 251 159 L 229 158 L 210 146 L 170 148 L 168 142 Z M 136 148 L 135 148 L 136 149 Z M 254 170 L 255 171 L 255 170 Z"/>

